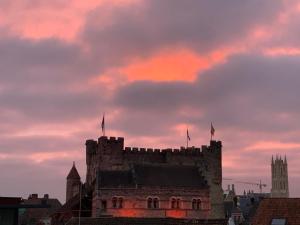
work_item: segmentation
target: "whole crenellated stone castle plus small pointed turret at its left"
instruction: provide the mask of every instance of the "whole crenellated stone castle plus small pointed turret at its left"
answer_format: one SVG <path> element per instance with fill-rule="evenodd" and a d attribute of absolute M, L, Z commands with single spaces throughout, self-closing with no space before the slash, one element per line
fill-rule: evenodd
<path fill-rule="evenodd" d="M 222 143 L 180 149 L 124 147 L 124 138 L 86 141 L 85 189 L 92 217 L 224 218 Z M 67 201 L 78 194 L 73 165 Z"/>

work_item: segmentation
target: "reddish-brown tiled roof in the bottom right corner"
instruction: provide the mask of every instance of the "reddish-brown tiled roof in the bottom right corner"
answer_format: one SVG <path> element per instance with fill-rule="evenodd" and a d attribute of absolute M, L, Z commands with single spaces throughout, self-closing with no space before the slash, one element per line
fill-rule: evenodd
<path fill-rule="evenodd" d="M 270 225 L 272 219 L 287 220 L 289 225 L 300 225 L 300 198 L 263 199 L 252 220 L 255 225 Z"/>

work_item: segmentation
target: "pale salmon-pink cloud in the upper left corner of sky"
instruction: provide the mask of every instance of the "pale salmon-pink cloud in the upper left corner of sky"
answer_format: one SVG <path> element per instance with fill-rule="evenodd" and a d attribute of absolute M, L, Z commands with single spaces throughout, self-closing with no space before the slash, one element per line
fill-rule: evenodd
<path fill-rule="evenodd" d="M 14 2 L 0 9 L 0 26 L 26 38 L 74 39 L 85 23 L 86 15 L 102 5 L 120 6 L 137 0 L 70 0 L 67 2 Z M 101 21 L 100 21 L 101 22 Z"/>

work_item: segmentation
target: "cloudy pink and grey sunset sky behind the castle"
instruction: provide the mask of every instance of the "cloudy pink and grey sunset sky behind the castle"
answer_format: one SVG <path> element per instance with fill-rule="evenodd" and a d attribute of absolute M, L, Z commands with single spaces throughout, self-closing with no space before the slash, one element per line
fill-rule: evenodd
<path fill-rule="evenodd" d="M 299 36 L 299 0 L 0 0 L 0 196 L 63 202 L 105 112 L 126 146 L 208 144 L 212 121 L 224 177 L 269 191 L 286 155 L 299 197 Z"/>

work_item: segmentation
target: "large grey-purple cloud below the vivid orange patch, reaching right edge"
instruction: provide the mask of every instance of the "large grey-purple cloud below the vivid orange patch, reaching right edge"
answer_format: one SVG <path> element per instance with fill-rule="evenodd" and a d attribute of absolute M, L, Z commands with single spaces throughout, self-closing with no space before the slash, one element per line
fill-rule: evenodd
<path fill-rule="evenodd" d="M 168 116 L 190 106 L 201 112 L 194 119 L 201 125 L 216 121 L 224 128 L 287 132 L 299 127 L 299 65 L 293 57 L 236 55 L 195 83 L 136 82 L 121 89 L 115 102 L 134 112 Z M 183 118 L 173 119 L 186 122 Z"/>

